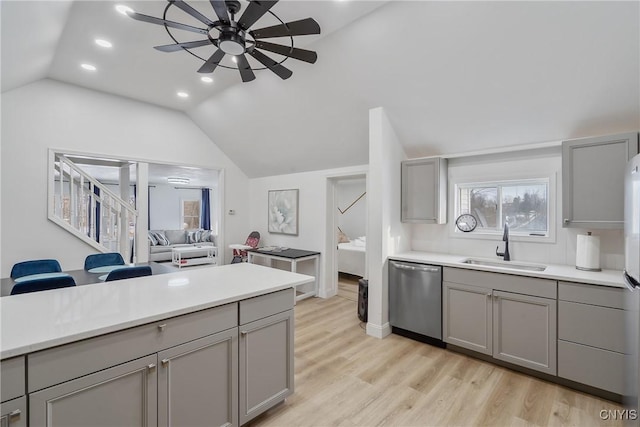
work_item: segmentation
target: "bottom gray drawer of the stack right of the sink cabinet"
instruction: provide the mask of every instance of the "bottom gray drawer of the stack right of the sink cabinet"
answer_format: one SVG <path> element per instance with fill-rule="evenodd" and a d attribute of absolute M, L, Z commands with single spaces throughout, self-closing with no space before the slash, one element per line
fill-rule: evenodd
<path fill-rule="evenodd" d="M 621 353 L 558 341 L 559 377 L 623 394 L 624 367 Z"/>

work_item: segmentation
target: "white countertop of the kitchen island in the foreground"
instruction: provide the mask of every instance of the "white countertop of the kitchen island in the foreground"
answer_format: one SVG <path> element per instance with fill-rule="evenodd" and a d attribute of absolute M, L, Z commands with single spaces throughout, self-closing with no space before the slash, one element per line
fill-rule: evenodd
<path fill-rule="evenodd" d="M 313 280 L 304 274 L 238 263 L 0 298 L 0 359 Z"/>

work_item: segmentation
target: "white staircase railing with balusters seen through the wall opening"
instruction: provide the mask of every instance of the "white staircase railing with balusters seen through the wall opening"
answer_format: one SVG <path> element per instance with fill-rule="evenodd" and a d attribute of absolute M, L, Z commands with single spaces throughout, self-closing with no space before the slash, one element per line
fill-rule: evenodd
<path fill-rule="evenodd" d="M 68 157 L 53 153 L 49 168 L 49 219 L 101 252 L 135 262 L 138 212 Z"/>

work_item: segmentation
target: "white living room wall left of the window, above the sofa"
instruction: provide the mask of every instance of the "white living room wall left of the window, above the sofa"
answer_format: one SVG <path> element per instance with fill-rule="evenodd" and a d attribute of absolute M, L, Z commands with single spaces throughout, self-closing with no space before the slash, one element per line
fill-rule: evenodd
<path fill-rule="evenodd" d="M 150 230 L 182 230 L 182 200 L 200 200 L 198 189 L 177 190 L 173 185 L 149 187 Z"/>

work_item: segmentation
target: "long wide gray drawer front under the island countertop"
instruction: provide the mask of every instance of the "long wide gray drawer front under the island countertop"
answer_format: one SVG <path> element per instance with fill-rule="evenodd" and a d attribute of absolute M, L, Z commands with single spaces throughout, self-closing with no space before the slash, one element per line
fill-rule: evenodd
<path fill-rule="evenodd" d="M 29 354 L 29 392 L 236 327 L 237 319 L 237 303 L 227 304 Z"/>

